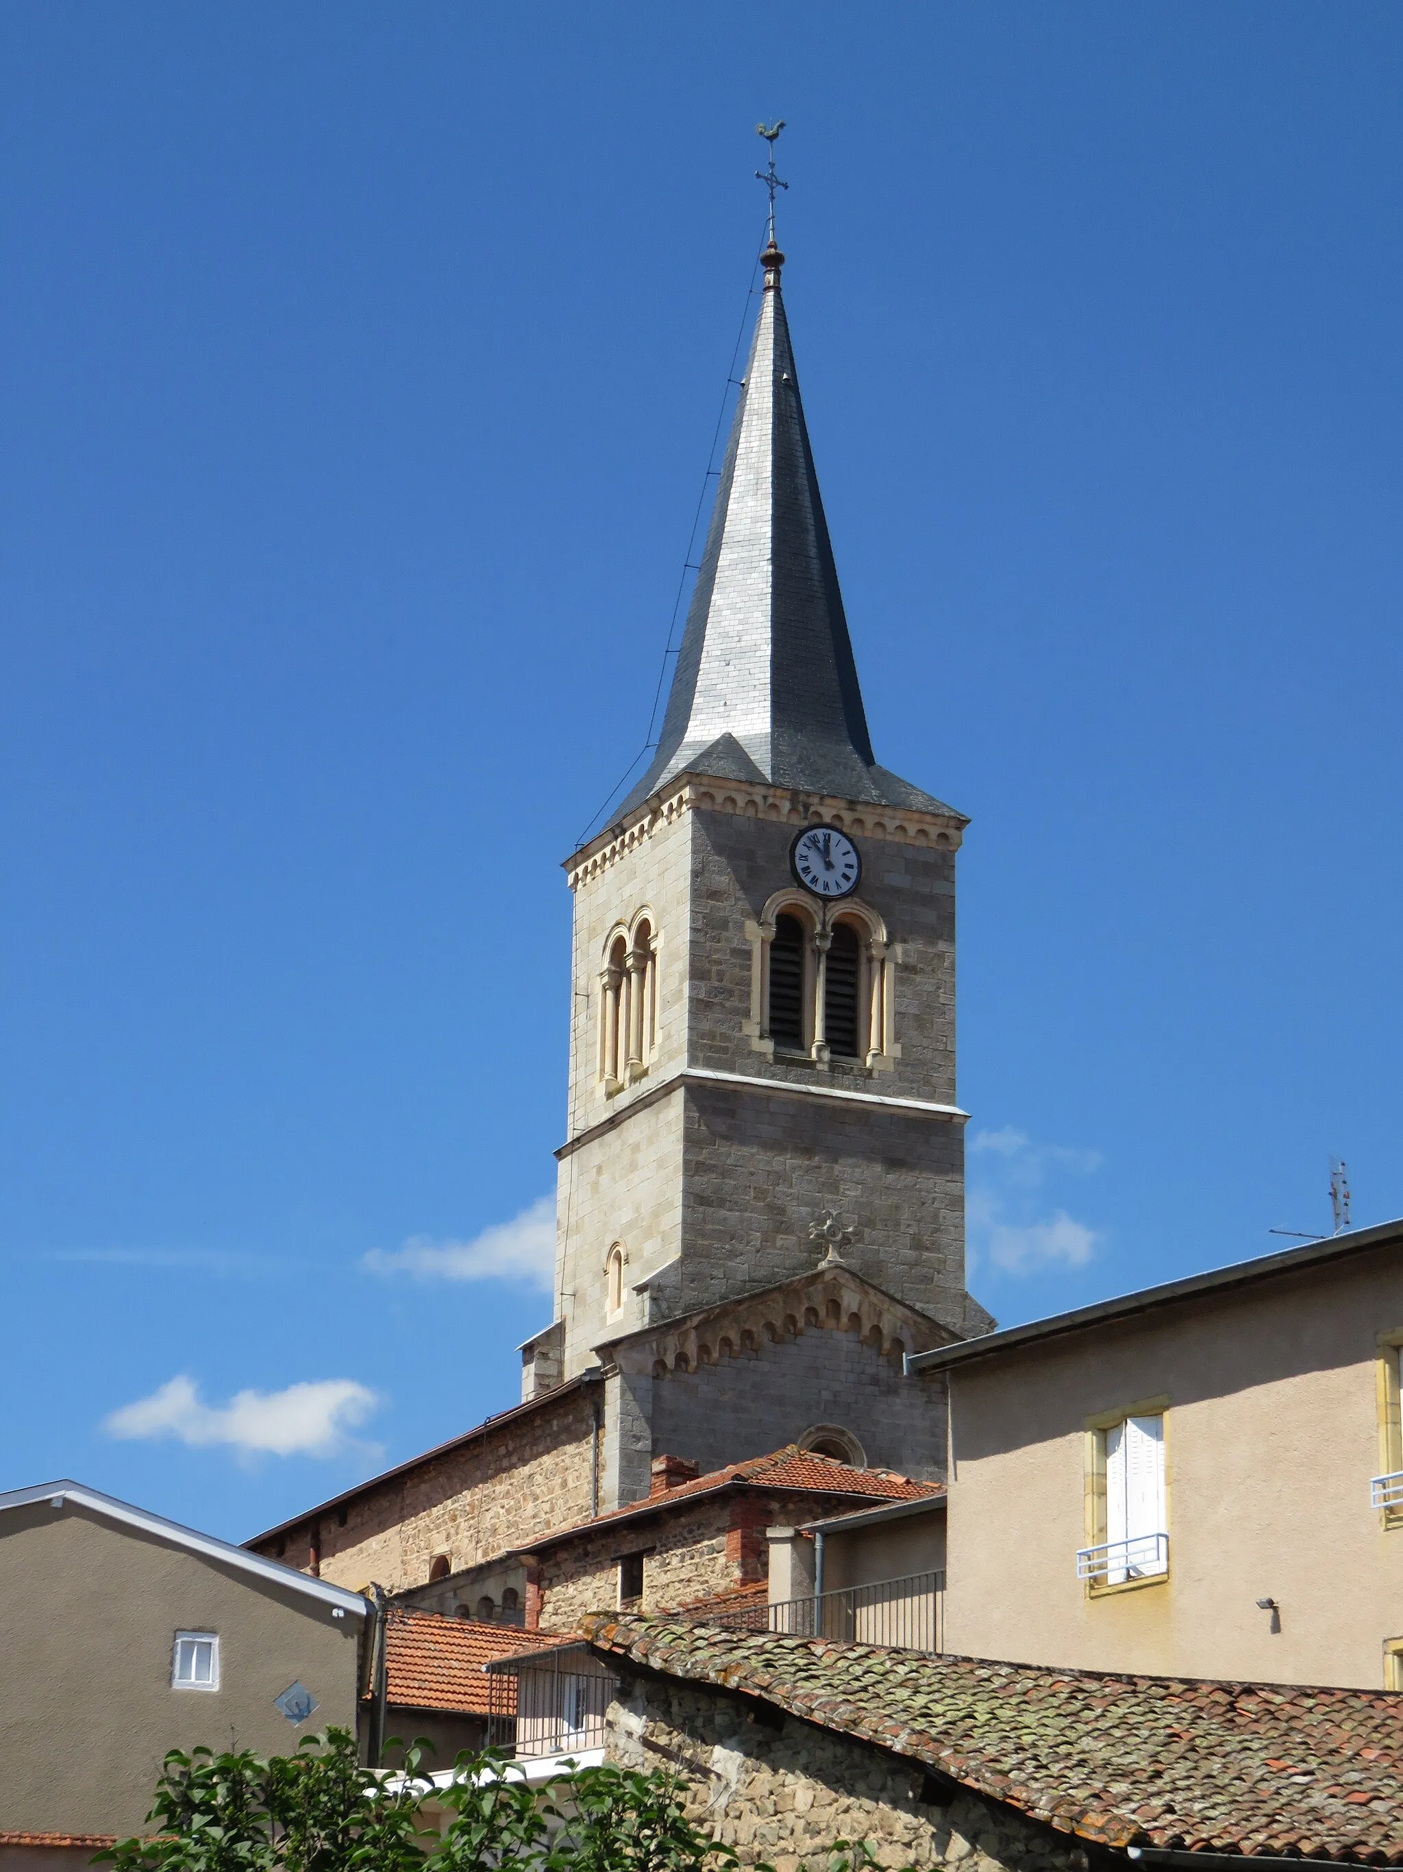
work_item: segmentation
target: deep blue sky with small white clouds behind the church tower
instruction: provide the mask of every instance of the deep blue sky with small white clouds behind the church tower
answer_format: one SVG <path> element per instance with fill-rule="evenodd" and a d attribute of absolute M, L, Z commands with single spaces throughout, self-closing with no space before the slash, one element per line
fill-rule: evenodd
<path fill-rule="evenodd" d="M 1265 1252 L 1332 1151 L 1403 1213 L 1401 66 L 1369 0 L 0 6 L 4 1486 L 243 1537 L 516 1397 L 761 116 L 877 756 L 973 818 L 971 1284 Z"/>

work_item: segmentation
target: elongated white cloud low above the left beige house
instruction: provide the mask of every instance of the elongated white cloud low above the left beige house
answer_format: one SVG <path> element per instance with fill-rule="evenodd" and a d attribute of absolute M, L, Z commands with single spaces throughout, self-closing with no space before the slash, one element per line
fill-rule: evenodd
<path fill-rule="evenodd" d="M 107 1417 L 108 1436 L 174 1436 L 191 1449 L 228 1445 L 243 1455 L 335 1456 L 374 1410 L 374 1391 L 354 1378 L 322 1378 L 286 1391 L 239 1391 L 228 1404 L 206 1404 L 195 1382 L 172 1378 L 148 1398 Z"/>

